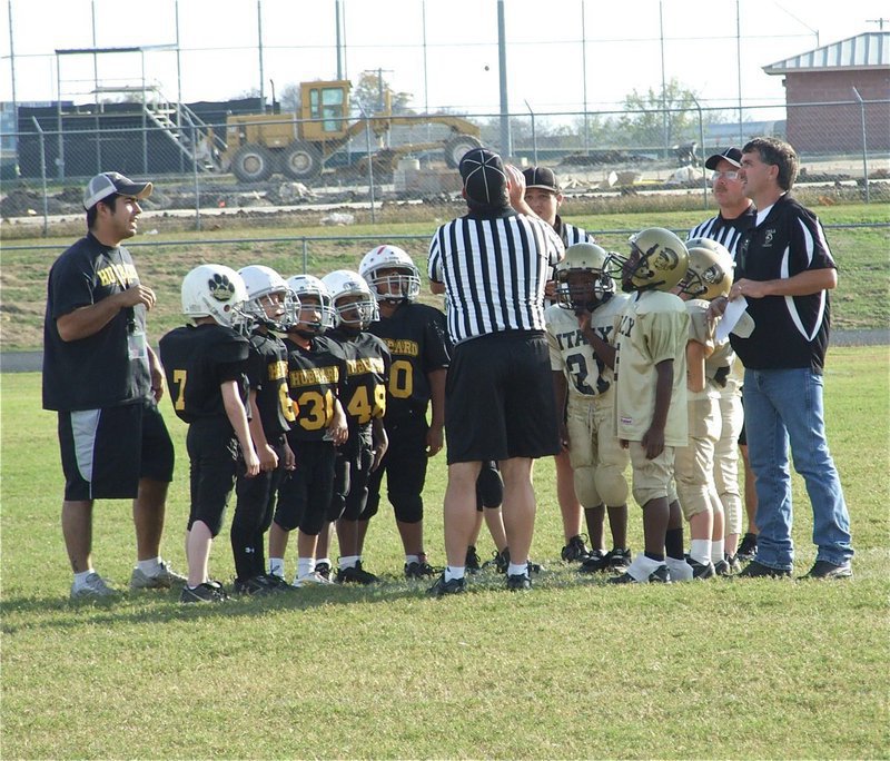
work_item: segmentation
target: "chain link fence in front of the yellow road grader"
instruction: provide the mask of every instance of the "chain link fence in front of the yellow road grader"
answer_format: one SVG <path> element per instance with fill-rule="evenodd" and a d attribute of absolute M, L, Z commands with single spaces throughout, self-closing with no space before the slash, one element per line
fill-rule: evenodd
<path fill-rule="evenodd" d="M 800 186 L 867 202 L 890 197 L 890 100 L 748 106 L 742 122 L 738 111 L 699 105 L 528 109 L 506 125 L 491 113 L 346 118 L 336 103 L 323 102 L 315 119 L 247 112 L 218 121 L 184 105 L 113 106 L 101 112 L 90 106 L 19 108 L 18 130 L 2 138 L 4 220 L 46 230 L 60 216 L 80 216 L 87 179 L 112 169 L 155 181 L 147 216 L 182 217 L 195 229 L 230 215 L 249 224 L 260 213 L 309 213 L 334 225 L 377 223 L 387 218 L 385 205 L 400 206 L 406 219 L 423 216 L 412 210 L 423 206 L 429 218 L 436 206 L 459 200 L 456 166 L 476 145 L 518 165 L 554 168 L 568 198 L 681 194 L 704 209 L 711 205 L 704 158 L 761 135 L 795 146 Z"/>

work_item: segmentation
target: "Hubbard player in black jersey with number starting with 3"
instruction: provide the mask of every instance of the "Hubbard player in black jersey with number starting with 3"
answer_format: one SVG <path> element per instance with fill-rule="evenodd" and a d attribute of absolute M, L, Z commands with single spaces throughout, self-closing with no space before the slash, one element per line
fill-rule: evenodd
<path fill-rule="evenodd" d="M 295 275 L 287 285 L 299 298 L 298 317 L 288 326 L 285 337 L 288 387 L 297 407 L 297 418 L 287 439 L 296 462 L 278 490 L 278 506 L 269 530 L 269 573 L 285 576 L 288 534 L 299 528 L 293 584 L 303 586 L 333 583 L 330 560 L 316 560 L 316 553 L 318 535 L 329 526 L 334 447 L 348 435 L 338 398 L 346 364 L 339 345 L 324 335 L 334 326 L 330 294 L 325 284 L 312 275 Z"/>

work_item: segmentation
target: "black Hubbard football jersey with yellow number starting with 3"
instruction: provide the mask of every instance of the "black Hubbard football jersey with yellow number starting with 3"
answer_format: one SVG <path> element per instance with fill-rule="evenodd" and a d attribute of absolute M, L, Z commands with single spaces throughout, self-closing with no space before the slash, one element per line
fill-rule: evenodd
<path fill-rule="evenodd" d="M 339 344 L 326 336 L 316 336 L 305 349 L 288 338 L 287 385 L 297 406 L 297 418 L 290 437 L 316 442 L 325 436 L 334 419 L 334 402 L 346 378 L 346 359 Z"/>

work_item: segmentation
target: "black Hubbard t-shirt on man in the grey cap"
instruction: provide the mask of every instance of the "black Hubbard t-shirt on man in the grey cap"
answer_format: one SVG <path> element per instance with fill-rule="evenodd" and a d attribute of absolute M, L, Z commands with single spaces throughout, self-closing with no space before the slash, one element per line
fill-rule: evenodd
<path fill-rule="evenodd" d="M 146 309 L 120 309 L 100 330 L 65 342 L 56 320 L 139 284 L 129 251 L 91 234 L 52 265 L 43 319 L 43 408 L 99 409 L 151 396 Z"/>

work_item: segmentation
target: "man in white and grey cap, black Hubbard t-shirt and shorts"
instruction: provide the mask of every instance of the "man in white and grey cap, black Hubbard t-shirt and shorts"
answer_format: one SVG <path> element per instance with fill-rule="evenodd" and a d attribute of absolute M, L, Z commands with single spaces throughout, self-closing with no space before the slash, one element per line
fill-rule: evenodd
<path fill-rule="evenodd" d="M 52 265 L 43 323 L 43 408 L 58 412 L 65 473 L 62 534 L 72 599 L 116 594 L 92 566 L 97 498 L 132 498 L 137 564 L 131 589 L 169 589 L 185 577 L 160 557 L 174 447 L 157 403 L 164 372 L 146 339 L 155 291 L 120 243 L 136 235 L 151 182 L 116 171 L 83 191 L 87 235 Z"/>

